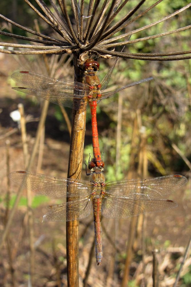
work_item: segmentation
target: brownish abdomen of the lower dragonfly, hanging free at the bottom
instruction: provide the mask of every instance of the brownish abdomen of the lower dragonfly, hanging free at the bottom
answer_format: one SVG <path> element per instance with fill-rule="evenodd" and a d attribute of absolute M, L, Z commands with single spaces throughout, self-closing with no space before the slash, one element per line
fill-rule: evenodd
<path fill-rule="evenodd" d="M 101 198 L 94 198 L 92 201 L 94 214 L 94 230 L 95 230 L 95 249 L 97 265 L 101 265 L 102 252 L 102 237 L 101 237 Z"/>

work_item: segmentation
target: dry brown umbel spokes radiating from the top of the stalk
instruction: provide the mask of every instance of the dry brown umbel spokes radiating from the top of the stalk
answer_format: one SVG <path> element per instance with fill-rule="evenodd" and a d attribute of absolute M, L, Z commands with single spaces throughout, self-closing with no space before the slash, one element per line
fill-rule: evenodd
<path fill-rule="evenodd" d="M 158 0 L 156 3 L 153 3 L 150 7 L 145 9 L 144 11 L 141 11 L 138 15 L 134 16 L 131 20 L 128 20 L 130 16 L 133 16 L 135 12 L 139 11 L 139 8 L 141 5 L 145 2 L 145 0 L 140 0 L 139 3 L 135 7 L 133 7 L 129 13 L 127 13 L 124 17 L 122 17 L 120 20 L 119 12 L 122 8 L 125 8 L 125 4 L 128 2 L 128 0 L 123 1 L 121 4 L 121 1 L 116 0 L 105 0 L 103 1 L 103 4 L 101 4 L 101 1 L 89 1 L 88 5 L 88 15 L 87 20 L 84 21 L 83 17 L 83 11 L 84 11 L 84 0 L 79 1 L 79 6 L 77 7 L 76 1 L 71 0 L 71 8 L 72 8 L 72 19 L 75 19 L 74 23 L 70 20 L 70 16 L 68 14 L 67 9 L 67 1 L 66 0 L 58 0 L 58 4 L 60 6 L 60 9 L 62 13 L 58 11 L 55 4 L 52 0 L 50 0 L 50 4 L 52 8 L 54 9 L 55 13 L 57 14 L 57 17 L 52 13 L 52 9 L 50 9 L 42 0 L 36 0 L 36 3 L 39 6 L 38 8 L 34 7 L 29 0 L 25 0 L 25 2 L 29 5 L 30 9 L 33 9 L 35 13 L 37 13 L 38 17 L 40 17 L 43 21 L 46 22 L 47 25 L 52 27 L 61 37 L 61 39 L 52 38 L 49 36 L 46 36 L 40 32 L 36 32 L 34 30 L 31 30 L 29 28 L 26 28 L 24 26 L 21 26 L 14 21 L 6 18 L 5 16 L 0 14 L 0 18 L 5 20 L 6 22 L 13 24 L 16 27 L 19 27 L 21 30 L 27 31 L 31 34 L 34 34 L 35 36 L 33 38 L 26 37 L 26 36 L 20 36 L 13 33 L 8 33 L 4 31 L 0 31 L 1 35 L 6 35 L 11 38 L 18 38 L 25 41 L 31 41 L 34 43 L 39 44 L 45 44 L 45 46 L 41 45 L 32 45 L 31 49 L 38 49 L 37 51 L 23 51 L 23 50 L 11 50 L 8 49 L 0 49 L 0 52 L 2 53 L 10 53 L 10 54 L 50 54 L 50 53 L 82 53 L 84 51 L 97 51 L 97 53 L 103 54 L 103 55 L 117 55 L 124 58 L 130 58 L 130 59 L 140 59 L 140 60 L 149 60 L 149 61 L 172 61 L 172 60 L 182 60 L 182 59 L 190 59 L 190 55 L 180 57 L 180 55 L 184 54 L 190 54 L 191 51 L 177 51 L 177 52 L 170 52 L 170 53 L 120 53 L 117 51 L 108 51 L 107 48 L 116 47 L 116 46 L 124 46 L 124 44 L 131 44 L 139 41 L 145 41 L 150 40 L 153 38 L 163 37 L 166 35 L 170 35 L 172 33 L 178 33 L 181 31 L 184 31 L 186 29 L 189 29 L 191 25 L 187 25 L 185 27 L 178 28 L 176 30 L 164 32 L 161 34 L 156 34 L 152 36 L 147 36 L 144 38 L 138 38 L 134 40 L 126 40 L 123 42 L 119 42 L 119 40 L 128 37 L 132 34 L 138 33 L 140 31 L 143 31 L 145 29 L 148 29 L 152 26 L 155 26 L 163 21 L 166 21 L 168 19 L 171 19 L 172 17 L 176 16 L 179 13 L 182 13 L 186 9 L 189 9 L 191 4 L 182 7 L 181 9 L 175 11 L 174 13 L 171 13 L 170 15 L 167 15 L 166 17 L 163 17 L 160 20 L 157 20 L 153 23 L 150 23 L 144 27 L 141 27 L 139 29 L 129 31 L 128 33 L 120 35 L 116 34 L 119 31 L 124 30 L 129 24 L 134 22 L 135 20 L 138 20 L 140 17 L 145 15 L 148 11 L 153 9 L 156 5 L 158 5 L 162 0 Z M 141 9 L 142 10 L 142 9 Z M 43 13 L 42 13 L 43 11 Z M 62 16 L 63 14 L 63 16 Z M 95 18 L 97 17 L 98 20 L 95 21 Z M 86 17 L 85 17 L 86 18 Z M 118 19 L 117 19 L 118 18 Z M 118 20 L 116 24 L 112 24 L 113 20 Z M 128 20 L 128 21 L 127 21 Z M 86 23 L 85 23 L 86 22 Z M 94 23 L 94 26 L 93 26 Z M 108 26 L 111 24 L 111 27 L 108 29 Z M 77 29 L 74 29 L 73 27 L 76 27 Z M 85 26 L 84 34 L 83 34 L 83 26 Z M 77 31 L 75 31 L 77 30 Z M 12 31 L 11 31 L 12 32 Z M 37 39 L 37 37 L 39 39 Z M 114 36 L 114 37 L 113 37 Z M 60 38 L 60 37 L 59 37 Z M 117 41 L 117 42 L 114 42 Z M 114 42 L 114 43 L 113 43 Z M 0 43 L 1 46 L 4 43 Z M 46 49 L 46 45 L 48 46 Z M 54 45 L 54 46 L 53 46 Z M 6 46 L 9 46 L 7 44 Z M 27 49 L 29 45 L 25 44 L 18 44 L 17 47 L 22 47 L 24 49 Z M 52 46 L 52 48 L 51 48 Z M 39 48 L 38 48 L 39 47 Z M 172 55 L 178 55 L 178 57 L 171 57 Z M 145 58 L 145 56 L 148 56 Z M 159 57 L 156 57 L 159 56 Z M 163 57 L 164 56 L 164 57 Z M 170 56 L 170 57 L 168 57 Z"/>

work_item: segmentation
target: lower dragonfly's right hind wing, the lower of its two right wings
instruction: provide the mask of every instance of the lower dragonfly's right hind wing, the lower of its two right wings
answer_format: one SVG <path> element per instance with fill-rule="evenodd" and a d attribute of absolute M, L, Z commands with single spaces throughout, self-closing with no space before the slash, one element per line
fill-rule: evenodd
<path fill-rule="evenodd" d="M 109 197 L 103 200 L 102 214 L 107 218 L 128 218 L 144 213 L 162 212 L 177 207 L 175 201 L 168 199 L 150 200 L 145 195 L 137 199 Z"/>

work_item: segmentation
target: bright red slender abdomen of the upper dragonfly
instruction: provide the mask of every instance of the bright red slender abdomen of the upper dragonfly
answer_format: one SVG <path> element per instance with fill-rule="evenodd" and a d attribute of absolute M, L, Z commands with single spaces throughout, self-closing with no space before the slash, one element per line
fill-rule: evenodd
<path fill-rule="evenodd" d="M 93 147 L 93 154 L 94 159 L 97 166 L 101 166 L 101 153 L 99 149 L 99 139 L 98 139 L 98 131 L 97 131 L 97 102 L 90 101 L 89 102 L 90 109 L 91 109 L 91 116 L 92 116 L 92 147 Z"/>

